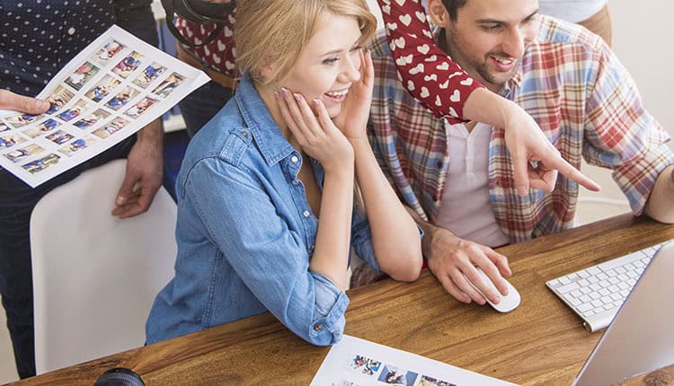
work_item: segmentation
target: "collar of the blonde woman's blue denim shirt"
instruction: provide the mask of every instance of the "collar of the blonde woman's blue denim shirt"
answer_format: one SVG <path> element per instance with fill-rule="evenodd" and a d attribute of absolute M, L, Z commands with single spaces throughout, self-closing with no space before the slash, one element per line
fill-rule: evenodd
<path fill-rule="evenodd" d="M 244 74 L 236 89 L 235 100 L 246 126 L 251 130 L 253 140 L 269 166 L 295 151 L 281 133 L 279 125 L 271 118 L 270 110 L 262 101 L 260 93 L 255 90 L 248 73 Z"/>

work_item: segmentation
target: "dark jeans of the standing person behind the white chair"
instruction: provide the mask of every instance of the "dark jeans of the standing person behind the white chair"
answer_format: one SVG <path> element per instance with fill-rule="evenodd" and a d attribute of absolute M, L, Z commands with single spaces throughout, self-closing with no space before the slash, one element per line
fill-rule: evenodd
<path fill-rule="evenodd" d="M 0 295 L 7 314 L 7 329 L 21 378 L 35 375 L 35 335 L 32 307 L 31 213 L 41 197 L 75 179 L 82 171 L 125 158 L 136 136 L 66 171 L 35 189 L 0 168 Z M 63 219 L 67 221 L 67 219 Z M 54 230 L 58 237 L 58 229 Z"/>

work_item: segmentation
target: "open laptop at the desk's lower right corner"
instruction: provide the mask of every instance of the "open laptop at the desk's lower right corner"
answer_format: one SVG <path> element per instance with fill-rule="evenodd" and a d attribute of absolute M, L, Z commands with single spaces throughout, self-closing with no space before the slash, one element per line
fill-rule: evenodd
<path fill-rule="evenodd" d="M 674 364 L 674 242 L 652 258 L 573 386 L 623 382 Z"/>

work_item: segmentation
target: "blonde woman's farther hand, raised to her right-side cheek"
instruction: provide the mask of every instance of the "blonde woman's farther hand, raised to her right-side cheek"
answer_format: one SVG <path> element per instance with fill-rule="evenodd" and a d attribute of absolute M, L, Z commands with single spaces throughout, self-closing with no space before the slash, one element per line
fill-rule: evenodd
<path fill-rule="evenodd" d="M 360 50 L 360 79 L 352 83 L 349 93 L 341 103 L 340 113 L 333 118 L 334 124 L 341 129 L 351 142 L 366 139 L 369 108 L 372 102 L 372 89 L 375 70 L 369 51 Z"/>

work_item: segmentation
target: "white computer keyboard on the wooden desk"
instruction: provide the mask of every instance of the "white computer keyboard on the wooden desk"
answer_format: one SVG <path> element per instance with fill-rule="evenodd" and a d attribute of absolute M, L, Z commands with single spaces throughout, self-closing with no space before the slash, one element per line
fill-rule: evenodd
<path fill-rule="evenodd" d="M 585 329 L 605 329 L 655 252 L 667 242 L 557 277 L 545 285 L 581 316 Z"/>

